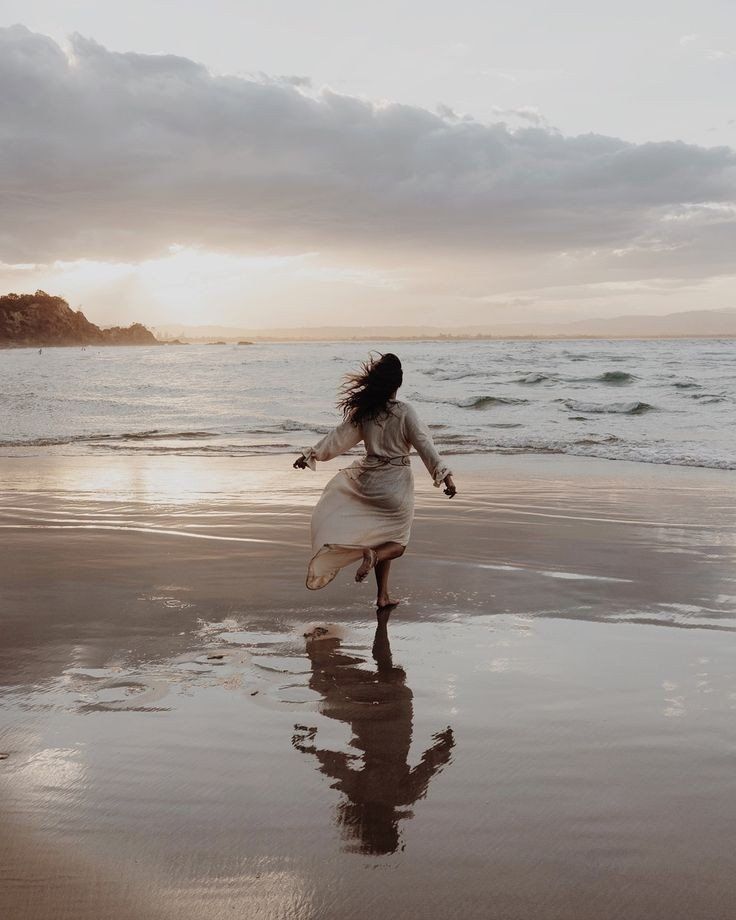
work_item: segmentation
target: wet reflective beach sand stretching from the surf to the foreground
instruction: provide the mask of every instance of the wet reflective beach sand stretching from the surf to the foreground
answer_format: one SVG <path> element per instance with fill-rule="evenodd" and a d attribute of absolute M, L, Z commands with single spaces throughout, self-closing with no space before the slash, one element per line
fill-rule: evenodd
<path fill-rule="evenodd" d="M 733 474 L 453 459 L 385 629 L 327 472 L 0 460 L 2 915 L 733 916 Z"/>

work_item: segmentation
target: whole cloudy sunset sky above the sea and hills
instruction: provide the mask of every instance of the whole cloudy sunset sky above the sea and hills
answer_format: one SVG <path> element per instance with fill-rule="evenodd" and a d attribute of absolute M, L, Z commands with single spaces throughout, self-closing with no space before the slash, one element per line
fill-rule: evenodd
<path fill-rule="evenodd" d="M 96 322 L 736 307 L 733 0 L 0 0 L 0 291 Z"/>

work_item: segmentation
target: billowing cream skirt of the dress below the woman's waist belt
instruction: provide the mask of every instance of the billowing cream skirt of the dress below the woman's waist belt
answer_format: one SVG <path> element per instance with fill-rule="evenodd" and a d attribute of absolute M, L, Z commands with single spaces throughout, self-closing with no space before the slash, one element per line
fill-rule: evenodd
<path fill-rule="evenodd" d="M 410 466 L 370 466 L 358 460 L 325 486 L 312 513 L 307 587 L 324 588 L 363 550 L 389 541 L 406 546 L 414 518 Z"/>

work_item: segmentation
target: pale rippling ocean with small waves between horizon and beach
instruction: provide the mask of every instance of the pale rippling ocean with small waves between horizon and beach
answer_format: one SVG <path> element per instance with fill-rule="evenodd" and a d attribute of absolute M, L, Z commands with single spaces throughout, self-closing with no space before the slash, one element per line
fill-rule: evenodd
<path fill-rule="evenodd" d="M 736 469 L 733 340 L 423 341 L 0 352 L 0 455 L 294 453 L 371 348 L 446 455 Z"/>

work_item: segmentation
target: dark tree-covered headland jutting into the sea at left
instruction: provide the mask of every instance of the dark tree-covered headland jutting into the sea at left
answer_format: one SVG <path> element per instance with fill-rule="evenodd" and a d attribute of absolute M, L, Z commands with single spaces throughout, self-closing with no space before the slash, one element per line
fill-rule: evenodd
<path fill-rule="evenodd" d="M 100 329 L 81 310 L 45 291 L 0 297 L 0 348 L 52 345 L 158 345 L 140 323 Z"/>

